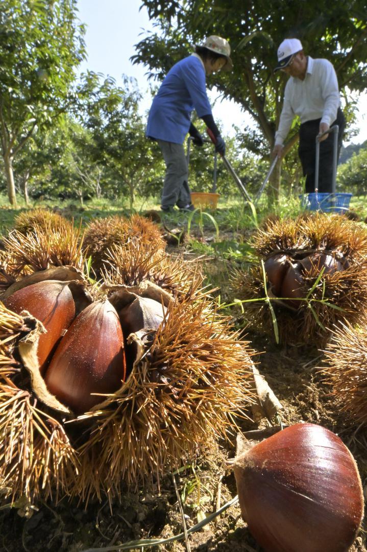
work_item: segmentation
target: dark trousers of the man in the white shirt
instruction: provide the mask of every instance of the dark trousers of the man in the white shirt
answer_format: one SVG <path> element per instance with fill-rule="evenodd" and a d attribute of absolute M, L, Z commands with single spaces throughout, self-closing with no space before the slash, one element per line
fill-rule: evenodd
<path fill-rule="evenodd" d="M 316 161 L 316 136 L 320 131 L 321 119 L 306 121 L 299 129 L 298 155 L 303 168 L 303 176 L 306 177 L 306 193 L 315 192 L 315 161 Z M 339 108 L 336 120 L 330 125 L 339 125 L 338 132 L 338 159 L 342 147 L 344 128 L 346 120 L 342 110 Z M 320 142 L 320 166 L 319 166 L 319 192 L 332 192 L 333 179 L 333 142 L 334 135 L 331 133 L 327 139 Z"/>

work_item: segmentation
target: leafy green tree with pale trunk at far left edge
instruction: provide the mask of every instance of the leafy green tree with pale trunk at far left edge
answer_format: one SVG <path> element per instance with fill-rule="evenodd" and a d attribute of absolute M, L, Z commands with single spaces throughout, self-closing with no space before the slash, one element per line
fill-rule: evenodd
<path fill-rule="evenodd" d="M 16 205 L 13 160 L 36 128 L 55 123 L 73 101 L 84 57 L 76 0 L 2 0 L 0 139 L 9 201 Z"/>

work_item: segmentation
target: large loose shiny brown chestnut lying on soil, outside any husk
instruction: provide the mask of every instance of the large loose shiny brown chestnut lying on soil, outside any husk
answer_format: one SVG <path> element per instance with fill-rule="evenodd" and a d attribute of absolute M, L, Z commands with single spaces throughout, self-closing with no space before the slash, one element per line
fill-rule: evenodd
<path fill-rule="evenodd" d="M 242 517 L 266 552 L 346 552 L 363 518 L 352 454 L 310 423 L 283 429 L 234 460 Z"/>

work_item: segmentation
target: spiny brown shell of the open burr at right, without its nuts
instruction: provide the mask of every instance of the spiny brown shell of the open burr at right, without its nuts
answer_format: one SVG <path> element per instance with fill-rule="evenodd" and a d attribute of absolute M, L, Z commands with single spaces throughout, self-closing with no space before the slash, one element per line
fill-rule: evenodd
<path fill-rule="evenodd" d="M 261 259 L 273 252 L 291 256 L 334 252 L 349 263 L 343 272 L 323 275 L 309 300 L 301 301 L 297 310 L 272 300 L 280 341 L 322 345 L 330 339 L 330 330 L 339 320 L 358 321 L 361 307 L 367 306 L 367 232 L 363 227 L 345 217 L 315 213 L 296 220 L 270 220 L 257 231 L 253 244 L 258 262 L 247 272 L 236 272 L 233 278 L 236 299 L 251 300 L 243 303 L 247 326 L 275 335 L 261 268 Z M 318 275 L 315 270 L 306 274 L 309 289 Z"/>

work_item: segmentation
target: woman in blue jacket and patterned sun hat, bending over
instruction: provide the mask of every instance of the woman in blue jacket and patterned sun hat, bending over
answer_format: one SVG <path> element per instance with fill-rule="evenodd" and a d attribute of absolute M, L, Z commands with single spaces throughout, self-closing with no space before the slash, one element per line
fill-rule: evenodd
<path fill-rule="evenodd" d="M 201 134 L 191 123 L 193 109 L 217 139 L 215 149 L 221 155 L 225 153 L 224 140 L 214 123 L 205 77 L 215 71 L 230 71 L 233 63 L 229 56 L 228 42 L 220 36 L 209 36 L 204 44 L 196 46 L 195 54 L 171 68 L 153 100 L 147 136 L 158 142 L 166 164 L 161 195 L 163 211 L 171 211 L 175 205 L 180 210 L 193 210 L 184 151 L 187 132 L 195 145 L 203 145 Z"/>

